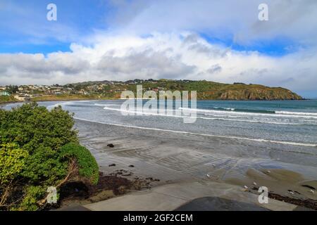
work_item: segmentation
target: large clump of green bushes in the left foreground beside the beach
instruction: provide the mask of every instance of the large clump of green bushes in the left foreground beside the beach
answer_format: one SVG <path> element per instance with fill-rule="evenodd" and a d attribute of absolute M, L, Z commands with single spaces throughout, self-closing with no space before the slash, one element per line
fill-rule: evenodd
<path fill-rule="evenodd" d="M 78 143 L 73 115 L 27 103 L 0 110 L 0 210 L 41 210 L 49 186 L 97 184 L 96 160 Z"/>

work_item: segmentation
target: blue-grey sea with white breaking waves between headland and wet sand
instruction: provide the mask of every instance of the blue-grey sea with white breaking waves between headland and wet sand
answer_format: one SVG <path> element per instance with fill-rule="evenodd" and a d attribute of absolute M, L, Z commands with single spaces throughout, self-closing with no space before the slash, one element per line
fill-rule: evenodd
<path fill-rule="evenodd" d="M 48 108 L 62 105 L 78 120 L 105 124 L 188 132 L 228 139 L 317 146 L 317 100 L 307 101 L 197 101 L 197 120 L 185 124 L 182 116 L 138 113 L 122 115 L 124 101 L 43 102 Z M 146 103 L 147 101 L 144 101 Z M 6 108 L 20 103 L 7 105 Z M 176 110 L 193 112 L 189 108 Z"/>

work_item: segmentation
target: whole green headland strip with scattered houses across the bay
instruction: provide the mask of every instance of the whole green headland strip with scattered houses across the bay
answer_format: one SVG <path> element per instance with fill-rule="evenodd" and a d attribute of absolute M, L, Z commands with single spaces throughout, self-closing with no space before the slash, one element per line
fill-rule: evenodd
<path fill-rule="evenodd" d="M 123 91 L 197 91 L 198 100 L 301 100 L 302 97 L 281 87 L 259 84 L 221 84 L 206 80 L 134 79 L 126 82 L 99 81 L 54 85 L 6 86 L 20 101 L 76 101 L 119 99 Z M 17 92 L 18 91 L 18 92 Z M 0 103 L 17 101 L 13 96 L 0 96 Z"/>

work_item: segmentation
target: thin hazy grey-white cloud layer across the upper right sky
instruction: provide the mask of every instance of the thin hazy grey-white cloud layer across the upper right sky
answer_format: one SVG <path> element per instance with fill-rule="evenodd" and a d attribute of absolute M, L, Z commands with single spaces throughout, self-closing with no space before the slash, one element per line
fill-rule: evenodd
<path fill-rule="evenodd" d="M 114 1 L 114 0 L 113 0 Z M 219 39 L 234 37 L 238 44 L 287 37 L 301 44 L 317 44 L 316 0 L 161 0 L 114 1 L 118 14 L 108 18 L 116 30 L 204 32 Z M 268 4 L 269 20 L 258 19 L 259 4 Z M 128 12 L 128 13 L 127 13 Z"/>

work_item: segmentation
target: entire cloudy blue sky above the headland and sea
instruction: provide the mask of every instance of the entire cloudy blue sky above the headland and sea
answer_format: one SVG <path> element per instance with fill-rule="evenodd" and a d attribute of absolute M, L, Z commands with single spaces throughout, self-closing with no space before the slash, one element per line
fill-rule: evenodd
<path fill-rule="evenodd" d="M 206 79 L 317 98 L 316 62 L 316 0 L 0 0 L 0 85 Z"/>

